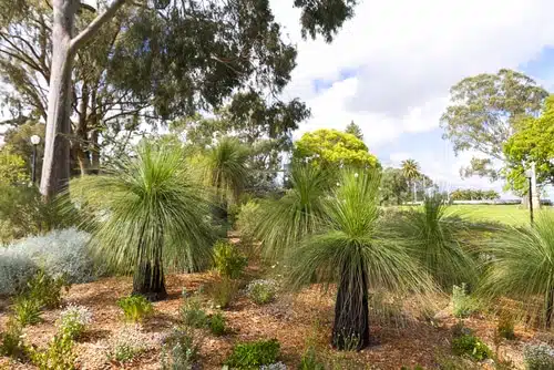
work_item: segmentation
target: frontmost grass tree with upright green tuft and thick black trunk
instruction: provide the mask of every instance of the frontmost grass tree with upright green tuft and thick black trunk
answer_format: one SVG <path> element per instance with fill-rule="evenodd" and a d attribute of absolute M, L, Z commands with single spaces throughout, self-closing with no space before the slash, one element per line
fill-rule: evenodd
<path fill-rule="evenodd" d="M 362 349 L 370 342 L 368 289 L 403 292 L 431 289 L 430 279 L 378 210 L 379 176 L 345 172 L 324 203 L 324 224 L 293 250 L 290 285 L 338 282 L 332 346 Z"/>

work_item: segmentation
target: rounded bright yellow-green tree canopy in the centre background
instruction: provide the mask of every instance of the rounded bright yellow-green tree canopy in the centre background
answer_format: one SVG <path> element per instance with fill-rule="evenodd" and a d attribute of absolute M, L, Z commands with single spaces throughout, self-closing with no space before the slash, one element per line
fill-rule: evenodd
<path fill-rule="evenodd" d="M 293 158 L 308 161 L 322 167 L 340 165 L 365 168 L 380 167 L 361 140 L 338 130 L 321 129 L 308 132 L 295 143 Z"/>

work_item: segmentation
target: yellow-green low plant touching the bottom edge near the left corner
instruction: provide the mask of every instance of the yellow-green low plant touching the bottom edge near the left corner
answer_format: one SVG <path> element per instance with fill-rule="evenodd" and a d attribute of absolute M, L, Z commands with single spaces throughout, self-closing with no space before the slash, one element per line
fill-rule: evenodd
<path fill-rule="evenodd" d="M 73 340 L 65 335 L 55 335 L 44 349 L 31 350 L 31 361 L 40 370 L 72 370 L 75 369 L 75 359 Z"/>

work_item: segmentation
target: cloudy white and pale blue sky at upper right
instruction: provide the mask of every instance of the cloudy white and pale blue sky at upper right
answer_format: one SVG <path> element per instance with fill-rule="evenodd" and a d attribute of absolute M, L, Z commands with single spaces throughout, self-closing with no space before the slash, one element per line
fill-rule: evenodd
<path fill-rule="evenodd" d="M 500 182 L 460 177 L 480 154 L 455 156 L 439 119 L 450 86 L 469 75 L 516 69 L 554 91 L 553 1 L 366 0 L 331 44 L 302 40 L 298 11 L 271 2 L 298 45 L 284 97 L 300 97 L 312 112 L 295 137 L 355 121 L 386 165 L 414 158 L 443 187 L 502 189 Z"/>

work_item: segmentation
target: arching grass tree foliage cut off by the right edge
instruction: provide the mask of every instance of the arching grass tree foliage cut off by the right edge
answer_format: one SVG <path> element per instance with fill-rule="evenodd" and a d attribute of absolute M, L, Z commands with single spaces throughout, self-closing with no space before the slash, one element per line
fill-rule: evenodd
<path fill-rule="evenodd" d="M 541 314 L 546 327 L 554 314 L 554 214 L 540 214 L 533 226 L 509 227 L 489 246 L 492 256 L 481 291 L 527 302 L 527 315 Z M 540 311 L 531 302 L 541 298 Z"/>

